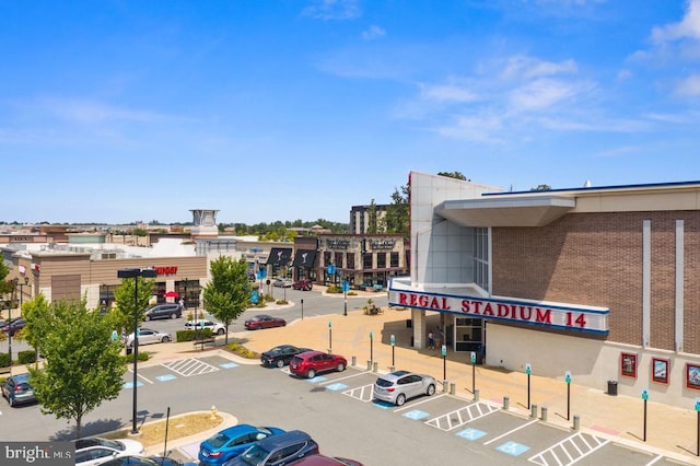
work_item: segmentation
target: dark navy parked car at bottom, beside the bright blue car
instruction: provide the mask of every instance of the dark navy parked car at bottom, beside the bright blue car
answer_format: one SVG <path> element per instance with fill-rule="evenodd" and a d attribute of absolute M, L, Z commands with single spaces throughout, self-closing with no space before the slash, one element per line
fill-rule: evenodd
<path fill-rule="evenodd" d="M 301 430 L 292 430 L 254 443 L 224 465 L 281 466 L 317 454 L 318 444 L 311 435 Z"/>

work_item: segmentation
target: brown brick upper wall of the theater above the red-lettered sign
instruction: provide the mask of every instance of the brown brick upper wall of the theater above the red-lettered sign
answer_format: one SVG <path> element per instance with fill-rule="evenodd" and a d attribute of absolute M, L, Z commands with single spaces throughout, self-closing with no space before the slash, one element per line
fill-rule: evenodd
<path fill-rule="evenodd" d="M 685 345 L 700 352 L 700 211 L 574 213 L 493 229 L 493 293 L 610 308 L 608 339 L 642 345 L 642 222 L 652 222 L 651 347 L 674 349 L 675 221 L 685 220 Z"/>

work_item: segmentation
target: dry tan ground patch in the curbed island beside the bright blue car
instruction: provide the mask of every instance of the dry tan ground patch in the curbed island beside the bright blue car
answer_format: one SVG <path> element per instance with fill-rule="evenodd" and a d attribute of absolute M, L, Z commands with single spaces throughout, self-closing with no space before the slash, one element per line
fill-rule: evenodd
<path fill-rule="evenodd" d="M 205 432 L 222 422 L 223 418 L 221 416 L 212 417 L 211 412 L 196 412 L 171 418 L 167 426 L 167 441 Z M 165 442 L 165 420 L 144 423 L 139 428 L 138 435 L 131 435 L 131 428 L 126 428 L 101 436 L 107 439 L 133 439 L 141 442 L 144 447 L 158 445 Z"/>

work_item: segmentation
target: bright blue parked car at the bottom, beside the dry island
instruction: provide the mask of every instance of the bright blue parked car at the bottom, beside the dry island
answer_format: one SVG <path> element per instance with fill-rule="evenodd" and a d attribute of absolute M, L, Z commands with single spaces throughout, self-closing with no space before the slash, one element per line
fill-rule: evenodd
<path fill-rule="evenodd" d="M 284 433 L 272 427 L 238 424 L 224 429 L 199 444 L 199 462 L 207 466 L 220 466 L 238 456 L 253 443 L 268 436 Z"/>

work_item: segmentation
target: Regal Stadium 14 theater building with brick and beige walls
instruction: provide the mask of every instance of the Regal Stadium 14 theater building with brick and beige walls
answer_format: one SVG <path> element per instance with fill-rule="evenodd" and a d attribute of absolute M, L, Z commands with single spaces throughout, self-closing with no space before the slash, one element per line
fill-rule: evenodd
<path fill-rule="evenodd" d="M 438 323 L 488 365 L 693 406 L 700 182 L 505 193 L 410 174 L 415 346 Z M 430 327 L 429 327 L 430 326 Z"/>

